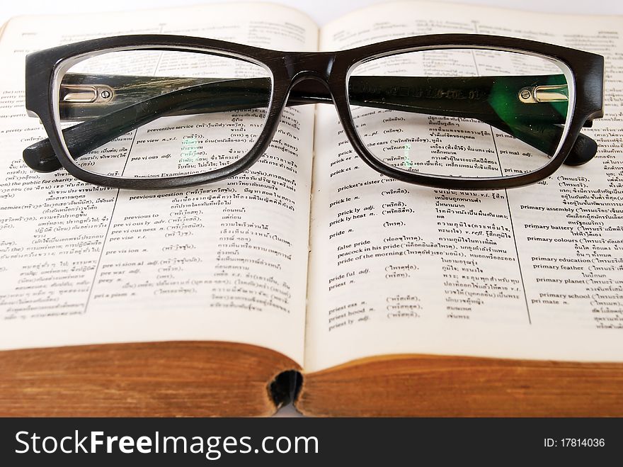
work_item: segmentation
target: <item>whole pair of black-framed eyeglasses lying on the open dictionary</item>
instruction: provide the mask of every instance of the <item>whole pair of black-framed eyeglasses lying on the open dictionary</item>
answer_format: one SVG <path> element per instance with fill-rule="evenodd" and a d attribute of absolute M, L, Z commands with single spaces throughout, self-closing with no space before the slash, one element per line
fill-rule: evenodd
<path fill-rule="evenodd" d="M 412 184 L 510 188 L 595 155 L 580 132 L 603 116 L 603 64 L 489 35 L 340 52 L 173 35 L 86 40 L 28 55 L 26 108 L 48 139 L 23 157 L 36 171 L 64 167 L 114 188 L 205 184 L 248 169 L 271 142 L 270 162 L 287 168 L 300 128 L 285 108 L 333 103 L 345 136 L 333 156 L 345 170 L 354 151 Z"/>

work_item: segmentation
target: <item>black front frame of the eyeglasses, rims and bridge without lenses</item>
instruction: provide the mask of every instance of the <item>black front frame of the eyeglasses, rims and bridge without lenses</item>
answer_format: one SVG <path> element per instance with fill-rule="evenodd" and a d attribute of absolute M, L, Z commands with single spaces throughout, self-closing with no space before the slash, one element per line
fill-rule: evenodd
<path fill-rule="evenodd" d="M 82 169 L 69 155 L 64 144 L 57 115 L 55 86 L 57 74 L 68 60 L 78 59 L 98 52 L 115 50 L 175 50 L 181 52 L 205 52 L 239 58 L 265 67 L 272 74 L 272 94 L 263 130 L 251 150 L 236 162 L 215 171 L 159 179 L 124 179 L 116 176 L 94 174 Z M 418 174 L 379 161 L 367 150 L 355 130 L 355 123 L 348 103 L 348 77 L 350 71 L 361 62 L 379 57 L 421 50 L 441 48 L 501 50 L 522 52 L 551 58 L 564 64 L 571 72 L 574 90 L 570 93 L 568 124 L 556 154 L 549 162 L 527 174 L 500 177 L 454 177 Z M 505 189 L 534 184 L 547 178 L 558 169 L 580 135 L 583 126 L 590 126 L 593 118 L 603 116 L 604 59 L 590 52 L 567 47 L 494 35 L 438 34 L 388 40 L 337 52 L 282 52 L 250 45 L 229 43 L 222 40 L 177 35 L 123 35 L 113 38 L 86 40 L 62 45 L 26 58 L 25 104 L 28 111 L 41 120 L 50 137 L 50 145 L 62 166 L 77 179 L 91 184 L 120 189 L 173 189 L 183 186 L 206 184 L 227 179 L 251 167 L 268 149 L 273 139 L 288 96 L 293 87 L 302 81 L 314 80 L 326 86 L 330 99 L 336 106 L 338 117 L 353 150 L 373 169 L 393 179 L 411 184 L 442 189 Z"/>

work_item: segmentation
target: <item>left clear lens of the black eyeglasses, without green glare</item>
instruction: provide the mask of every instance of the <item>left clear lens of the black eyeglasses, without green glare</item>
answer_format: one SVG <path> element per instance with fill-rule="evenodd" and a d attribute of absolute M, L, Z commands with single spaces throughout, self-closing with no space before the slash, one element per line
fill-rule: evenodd
<path fill-rule="evenodd" d="M 251 150 L 271 89 L 267 69 L 237 57 L 113 51 L 59 74 L 57 118 L 69 154 L 94 174 L 202 174 Z"/>

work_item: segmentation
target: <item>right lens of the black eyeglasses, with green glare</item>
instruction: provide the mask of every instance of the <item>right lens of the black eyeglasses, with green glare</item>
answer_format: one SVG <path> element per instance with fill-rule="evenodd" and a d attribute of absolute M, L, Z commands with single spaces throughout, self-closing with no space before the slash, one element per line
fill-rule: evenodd
<path fill-rule="evenodd" d="M 440 49 L 359 64 L 348 80 L 358 135 L 380 162 L 428 175 L 500 177 L 547 165 L 572 99 L 547 58 Z"/>

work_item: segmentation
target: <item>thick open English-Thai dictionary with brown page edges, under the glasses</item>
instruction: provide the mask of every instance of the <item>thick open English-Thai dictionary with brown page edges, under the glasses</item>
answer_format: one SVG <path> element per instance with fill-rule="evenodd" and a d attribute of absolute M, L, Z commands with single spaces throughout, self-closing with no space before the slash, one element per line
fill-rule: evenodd
<path fill-rule="evenodd" d="M 263 3 L 9 21 L 0 414 L 268 415 L 295 398 L 309 415 L 622 415 L 620 24 L 422 2 L 321 29 Z M 23 106 L 25 54 L 128 33 L 307 51 L 486 33 L 597 52 L 605 118 L 583 133 L 600 149 L 535 186 L 428 189 L 365 166 L 319 104 L 287 108 L 258 163 L 216 184 L 31 171 L 22 150 L 44 133 Z M 430 135 L 460 154 L 444 122 Z"/>

